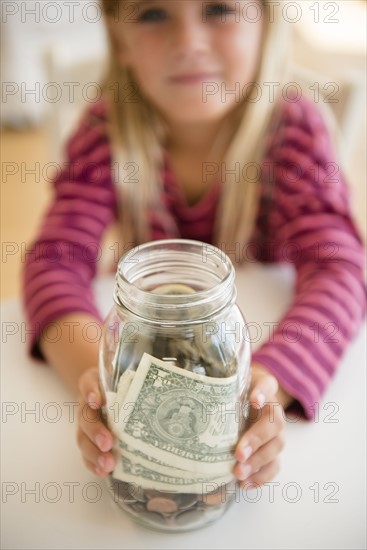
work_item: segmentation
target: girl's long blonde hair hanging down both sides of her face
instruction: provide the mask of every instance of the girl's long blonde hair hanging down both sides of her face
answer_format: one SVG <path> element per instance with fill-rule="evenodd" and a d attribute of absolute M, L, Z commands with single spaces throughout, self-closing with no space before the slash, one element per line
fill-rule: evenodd
<path fill-rule="evenodd" d="M 118 1 L 101 0 L 105 17 L 112 17 Z M 260 85 L 279 83 L 276 90 L 280 93 L 287 78 L 289 25 L 284 24 L 281 5 L 266 2 L 262 7 L 265 24 L 254 82 Z M 127 163 L 136 163 L 135 166 L 139 167 L 138 182 L 132 185 L 126 178 L 119 178 L 118 182 L 122 196 L 122 237 L 124 243 L 138 244 L 149 240 L 147 212 L 150 208 L 157 207 L 157 197 L 162 188 L 162 144 L 167 128 L 154 107 L 140 95 L 130 71 L 120 67 L 111 35 L 109 50 L 109 69 L 103 82 L 103 90 L 109 107 L 113 162 L 118 167 L 127 166 Z M 133 89 L 137 101 L 116 101 L 116 82 L 118 90 L 128 90 L 129 87 L 130 90 Z M 256 84 L 253 86 L 253 90 L 255 89 Z M 213 242 L 222 249 L 223 246 L 231 249 L 235 243 L 245 246 L 249 242 L 259 208 L 259 178 L 248 179 L 248 170 L 243 168 L 260 165 L 265 135 L 278 98 L 275 96 L 271 102 L 265 93 L 256 101 L 249 101 L 249 97 L 251 98 L 251 91 L 231 113 L 234 133 L 226 151 L 224 166 L 230 171 L 240 162 L 241 169 L 240 181 L 234 174 L 226 176 L 225 192 L 220 198 Z"/>

